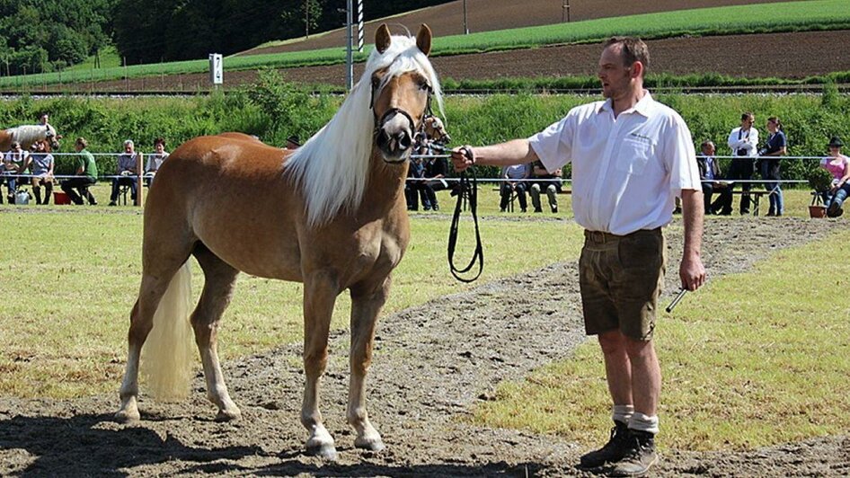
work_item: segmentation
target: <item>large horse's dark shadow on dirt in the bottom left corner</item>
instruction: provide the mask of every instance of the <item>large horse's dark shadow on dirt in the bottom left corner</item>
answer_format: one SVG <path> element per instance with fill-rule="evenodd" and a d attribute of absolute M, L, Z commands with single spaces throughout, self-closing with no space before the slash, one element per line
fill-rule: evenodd
<path fill-rule="evenodd" d="M 111 414 L 0 420 L 0 450 L 25 450 L 29 456 L 21 461 L 30 462 L 17 467 L 4 460 L 0 474 L 126 475 L 140 465 L 238 460 L 264 453 L 259 447 L 187 447 L 167 433 L 163 438 L 151 429 L 112 423 Z"/>

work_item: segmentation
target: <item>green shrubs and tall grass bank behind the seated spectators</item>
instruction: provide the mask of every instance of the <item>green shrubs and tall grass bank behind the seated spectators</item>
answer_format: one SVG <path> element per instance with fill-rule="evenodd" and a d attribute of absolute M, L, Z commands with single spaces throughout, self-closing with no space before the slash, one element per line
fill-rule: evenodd
<path fill-rule="evenodd" d="M 765 123 L 777 116 L 788 137 L 792 156 L 827 153 L 829 137 L 850 140 L 850 95 L 838 93 L 831 84 L 820 94 L 681 94 L 656 96 L 686 120 L 695 145 L 711 139 L 718 155 L 729 155 L 726 139 L 739 126 L 740 114 L 752 111 L 756 128 L 766 137 Z M 598 100 L 587 95 L 497 94 L 482 97 L 449 97 L 446 102 L 447 128 L 456 145 L 481 145 L 528 137 L 560 120 L 581 103 Z M 270 145 L 283 146 L 286 137 L 304 140 L 331 119 L 341 98 L 330 94 L 311 95 L 283 81 L 273 72 L 264 72 L 258 84 L 235 92 L 208 97 L 173 98 L 94 98 L 61 97 L 33 99 L 21 97 L 0 102 L 0 128 L 34 123 L 41 111 L 50 113 L 51 123 L 64 136 L 62 152 L 73 152 L 75 137 L 85 137 L 92 151 L 120 151 L 125 139 L 133 139 L 137 150 L 151 151 L 155 137 L 164 137 L 173 150 L 191 137 L 242 131 L 260 137 Z M 71 173 L 73 158 L 60 156 L 57 173 Z M 98 160 L 104 173 L 114 170 L 114 157 Z M 724 160 L 721 161 L 725 166 Z M 816 162 L 786 160 L 785 179 L 805 180 Z M 569 177 L 569 168 L 566 171 Z M 481 176 L 498 175 L 484 169 Z"/>

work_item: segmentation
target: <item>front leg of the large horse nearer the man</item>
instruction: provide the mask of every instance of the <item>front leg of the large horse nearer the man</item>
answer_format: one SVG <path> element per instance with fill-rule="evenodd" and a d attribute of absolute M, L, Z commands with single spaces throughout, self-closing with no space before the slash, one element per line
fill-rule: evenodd
<path fill-rule="evenodd" d="M 349 424 L 357 431 L 354 446 L 372 451 L 384 449 L 384 441 L 366 410 L 366 373 L 372 362 L 377 315 L 389 295 L 390 278 L 376 288 L 351 288 L 351 378 L 349 383 Z"/>

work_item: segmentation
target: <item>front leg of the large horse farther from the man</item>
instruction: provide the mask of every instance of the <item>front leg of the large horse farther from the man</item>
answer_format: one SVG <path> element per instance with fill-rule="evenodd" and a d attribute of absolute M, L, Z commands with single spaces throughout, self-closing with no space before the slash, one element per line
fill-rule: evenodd
<path fill-rule="evenodd" d="M 333 438 L 322 423 L 319 412 L 319 378 L 328 364 L 328 329 L 333 304 L 340 293 L 336 277 L 319 271 L 304 280 L 304 403 L 301 423 L 310 432 L 306 450 L 310 455 L 336 458 Z"/>

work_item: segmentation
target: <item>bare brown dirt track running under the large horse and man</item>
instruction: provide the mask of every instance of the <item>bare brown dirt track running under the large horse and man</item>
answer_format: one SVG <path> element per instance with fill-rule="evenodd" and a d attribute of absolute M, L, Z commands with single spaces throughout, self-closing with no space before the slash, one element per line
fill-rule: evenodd
<path fill-rule="evenodd" d="M 792 217 L 714 219 L 706 226 L 704 261 L 709 277 L 718 278 L 748 270 L 769 252 L 838 230 L 846 234 L 846 222 Z M 664 304 L 678 285 L 674 264 L 681 254 L 680 222 L 669 226 L 667 235 L 672 263 Z M 734 246 L 730 237 L 735 238 Z M 521 379 L 536 367 L 567 359 L 587 340 L 576 278 L 575 262 L 553 263 L 383 317 L 368 397 L 372 421 L 387 445 L 384 452 L 352 447 L 354 437 L 344 422 L 350 337 L 348 332 L 334 332 L 322 408 L 340 451 L 334 463 L 303 454 L 306 432 L 298 422 L 301 346 L 291 344 L 225 364 L 231 392 L 243 411 L 242 420 L 230 423 L 213 420 L 214 406 L 203 398 L 200 376 L 186 403 L 155 403 L 143 390 L 143 420 L 133 425 L 111 420 L 119 404 L 118 379 L 116 393 L 108 396 L 69 401 L 0 398 L 0 474 L 586 475 L 574 468 L 586 451 L 575 443 L 557 436 L 476 426 L 469 420 L 471 408 L 490 400 L 500 381 Z M 699 300 L 698 293 L 687 300 Z M 658 333 L 664 333 L 663 316 Z M 226 332 L 222 340 L 226 341 Z M 607 405 L 599 403 L 599 407 Z M 600 441 L 606 438 L 605 431 L 599 430 Z M 848 436 L 745 452 L 667 450 L 653 473 L 847 474 Z"/>

